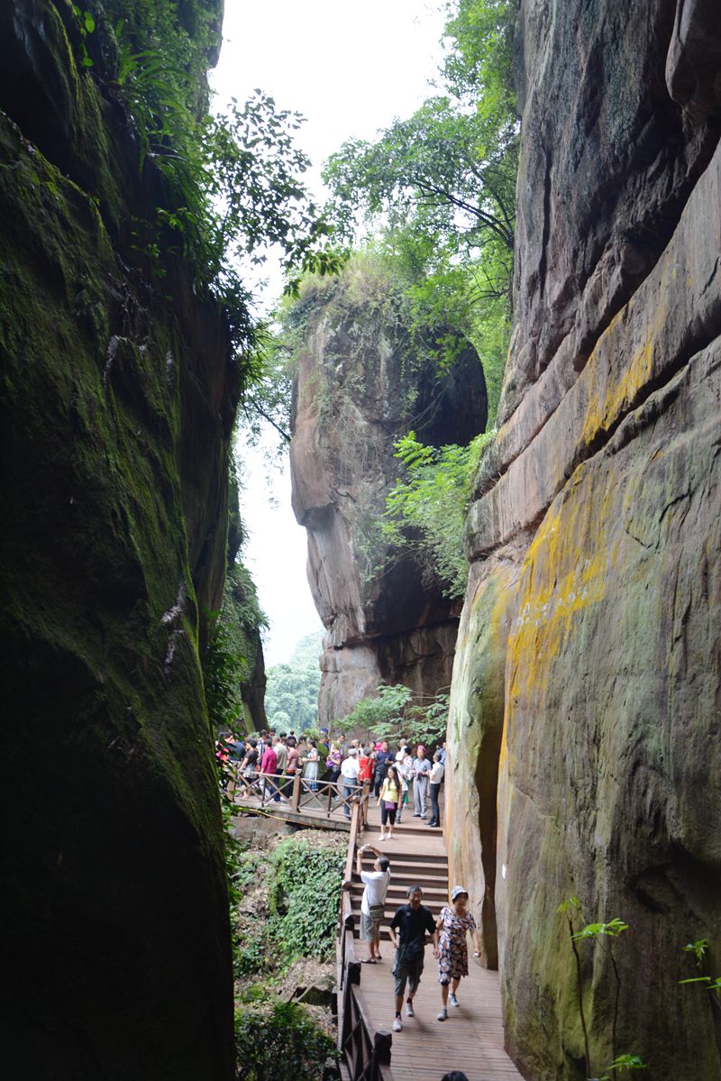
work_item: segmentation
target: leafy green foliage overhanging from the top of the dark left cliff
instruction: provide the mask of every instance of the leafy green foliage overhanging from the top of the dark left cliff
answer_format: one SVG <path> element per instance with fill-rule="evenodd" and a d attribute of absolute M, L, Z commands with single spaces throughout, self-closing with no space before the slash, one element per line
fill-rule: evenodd
<path fill-rule="evenodd" d="M 243 105 L 232 99 L 225 112 L 209 111 L 205 71 L 219 49 L 214 3 L 109 0 L 104 12 L 81 14 L 80 32 L 88 19 L 97 32 L 92 48 L 81 40 L 80 63 L 89 54 L 88 77 L 128 112 L 141 169 L 163 179 L 155 214 L 135 223 L 138 258 L 157 277 L 174 257 L 191 265 L 196 292 L 224 307 L 251 383 L 262 370 L 263 328 L 243 267 L 277 245 L 293 290 L 298 273 L 341 264 L 303 182 L 309 159 L 295 133 L 304 118 L 259 90 Z"/>

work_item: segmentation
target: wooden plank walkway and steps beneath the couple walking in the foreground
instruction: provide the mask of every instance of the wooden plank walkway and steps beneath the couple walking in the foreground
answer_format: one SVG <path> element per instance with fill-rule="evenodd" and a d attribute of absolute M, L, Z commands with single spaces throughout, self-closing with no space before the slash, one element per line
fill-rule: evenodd
<path fill-rule="evenodd" d="M 424 903 L 433 916 L 448 904 L 448 860 L 440 829 L 431 829 L 420 819 L 408 817 L 392 841 L 378 840 L 378 810 L 373 802 L 361 843 L 374 844 L 390 858 L 391 886 L 386 919 L 408 885 L 416 881 L 424 890 Z M 370 868 L 370 863 L 364 862 Z M 444 888 L 439 886 L 439 882 Z M 352 890 L 352 907 L 358 910 L 360 886 Z M 471 898 L 472 902 L 472 898 Z M 361 966 L 358 997 L 373 1027 L 389 1032 L 393 1022 L 393 980 L 390 975 L 392 947 L 387 930 L 380 942 L 383 961 Z M 355 940 L 356 958 L 366 956 L 365 945 Z M 468 1081 L 523 1081 L 504 1051 L 498 973 L 482 969 L 469 950 L 469 975 L 460 982 L 458 1007 L 449 1006 L 448 1020 L 439 1022 L 441 1007 L 438 965 L 430 946 L 420 986 L 415 996 L 415 1017 L 406 1017 L 403 1029 L 392 1032 L 390 1072 L 393 1081 L 440 1081 L 448 1070 L 463 1070 Z"/>

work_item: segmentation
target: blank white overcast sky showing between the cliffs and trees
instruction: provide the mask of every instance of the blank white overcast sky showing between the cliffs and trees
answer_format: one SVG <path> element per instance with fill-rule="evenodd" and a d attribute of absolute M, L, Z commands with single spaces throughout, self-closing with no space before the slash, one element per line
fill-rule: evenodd
<path fill-rule="evenodd" d="M 322 162 L 351 137 L 372 138 L 410 116 L 430 91 L 440 58 L 442 0 L 226 0 L 223 50 L 211 82 L 219 109 L 255 88 L 307 122 L 298 144 L 320 184 Z M 317 191 L 320 195 L 320 191 Z M 272 276 L 273 281 L 280 281 Z M 276 286 L 277 288 L 277 286 Z M 250 539 L 244 562 L 271 627 L 266 665 L 286 660 L 320 628 L 306 579 L 306 534 L 291 510 L 288 469 L 271 488 L 259 453 L 241 448 L 241 510 Z M 277 506 L 271 506 L 272 496 Z"/>

